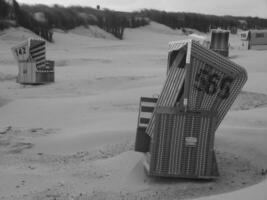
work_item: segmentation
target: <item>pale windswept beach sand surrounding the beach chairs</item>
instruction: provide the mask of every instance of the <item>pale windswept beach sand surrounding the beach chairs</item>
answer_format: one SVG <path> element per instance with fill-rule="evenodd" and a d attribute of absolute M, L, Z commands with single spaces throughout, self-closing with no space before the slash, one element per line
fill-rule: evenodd
<path fill-rule="evenodd" d="M 33 34 L 0 35 L 0 199 L 265 200 L 266 51 L 241 50 L 230 37 L 231 59 L 249 80 L 216 133 L 221 177 L 154 179 L 133 151 L 139 98 L 159 94 L 168 42 L 187 36 L 154 22 L 126 29 L 124 40 L 91 31 L 54 33 L 47 57 L 56 82 L 41 86 L 15 82 L 10 51 Z"/>

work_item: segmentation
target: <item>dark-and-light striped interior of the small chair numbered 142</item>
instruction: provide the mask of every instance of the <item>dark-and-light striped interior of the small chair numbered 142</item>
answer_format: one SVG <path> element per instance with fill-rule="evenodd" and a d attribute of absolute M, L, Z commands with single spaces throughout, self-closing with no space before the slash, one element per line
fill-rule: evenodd
<path fill-rule="evenodd" d="M 30 44 L 30 55 L 31 58 L 36 62 L 37 70 L 44 70 L 46 67 L 46 55 L 45 55 L 45 41 L 42 40 L 31 40 Z"/>

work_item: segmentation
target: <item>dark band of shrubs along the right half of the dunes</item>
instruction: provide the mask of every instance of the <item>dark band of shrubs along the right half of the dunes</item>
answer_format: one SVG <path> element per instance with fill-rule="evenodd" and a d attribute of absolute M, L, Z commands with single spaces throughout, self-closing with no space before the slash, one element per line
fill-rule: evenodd
<path fill-rule="evenodd" d="M 267 28 L 267 19 L 258 17 L 233 17 L 233 16 L 215 16 L 204 15 L 199 13 L 185 13 L 185 12 L 165 12 L 159 10 L 141 10 L 137 12 L 143 17 L 156 21 L 158 23 L 167 25 L 173 29 L 175 28 L 193 28 L 201 32 L 208 32 L 210 28 Z M 243 24 L 245 23 L 245 26 Z"/>

